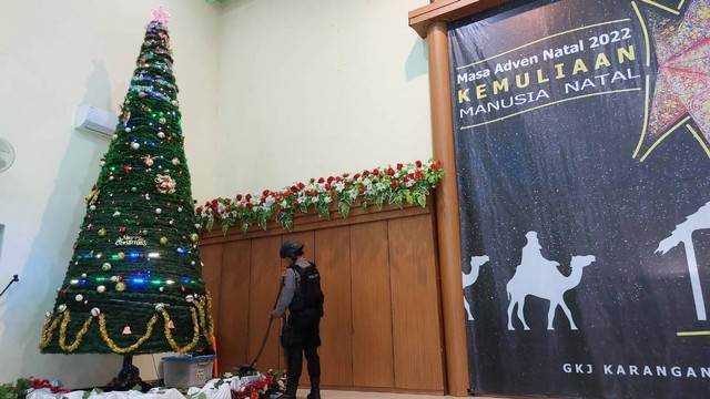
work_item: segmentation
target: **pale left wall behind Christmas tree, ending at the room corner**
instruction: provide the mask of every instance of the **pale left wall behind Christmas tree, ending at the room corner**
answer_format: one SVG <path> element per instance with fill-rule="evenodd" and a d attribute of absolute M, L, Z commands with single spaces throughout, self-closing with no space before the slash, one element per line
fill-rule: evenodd
<path fill-rule="evenodd" d="M 220 6 L 160 3 L 173 17 L 169 27 L 194 196 L 211 197 Z M 118 112 L 155 6 L 0 1 L 0 136 L 17 151 L 14 165 L 0 174 L 0 223 L 7 225 L 0 289 L 20 276 L 0 298 L 0 382 L 37 376 L 74 388 L 100 386 L 120 369 L 119 355 L 40 355 L 38 344 L 85 214 L 83 198 L 109 143 L 74 131 L 74 110 L 92 103 Z M 141 371 L 154 376 L 152 361 Z"/>

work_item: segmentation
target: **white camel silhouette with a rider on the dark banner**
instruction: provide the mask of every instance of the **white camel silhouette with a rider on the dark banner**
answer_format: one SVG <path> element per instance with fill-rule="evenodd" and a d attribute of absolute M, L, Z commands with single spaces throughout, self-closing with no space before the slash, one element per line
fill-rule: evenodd
<path fill-rule="evenodd" d="M 528 239 L 528 243 L 530 241 Z M 572 319 L 572 314 L 565 304 L 565 293 L 577 287 L 581 280 L 582 268 L 589 266 L 597 258 L 594 255 L 572 256 L 570 266 L 572 273 L 569 276 L 562 275 L 557 268 L 554 270 L 549 267 L 541 267 L 535 270 L 535 265 L 529 263 L 520 263 L 520 266 L 516 268 L 515 275 L 506 285 L 508 294 L 508 329 L 514 330 L 513 327 L 513 310 L 515 306 L 518 306 L 518 318 L 523 321 L 523 327 L 529 330 L 527 323 L 525 323 L 525 316 L 523 308 L 525 306 L 525 298 L 528 295 L 536 296 L 538 298 L 548 299 L 550 301 L 550 308 L 547 313 L 547 329 L 552 330 L 552 321 L 555 318 L 555 310 L 559 306 L 567 319 L 569 320 L 570 329 L 576 330 L 577 325 Z M 529 262 L 531 259 L 526 259 Z M 551 260 L 545 259 L 540 255 L 539 262 L 545 265 L 549 265 Z M 554 263 L 557 264 L 557 263 Z"/>

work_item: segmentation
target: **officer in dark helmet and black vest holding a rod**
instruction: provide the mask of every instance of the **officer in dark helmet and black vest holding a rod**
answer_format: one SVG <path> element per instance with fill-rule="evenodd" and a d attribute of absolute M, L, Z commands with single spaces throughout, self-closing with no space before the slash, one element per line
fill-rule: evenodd
<path fill-rule="evenodd" d="M 304 258 L 303 244 L 286 241 L 281 245 L 282 259 L 288 258 L 291 265 L 284 272 L 284 286 L 272 318 L 282 317 L 288 308 L 287 327 L 292 337 L 286 346 L 287 381 L 283 399 L 295 399 L 301 378 L 303 355 L 305 354 L 311 377 L 311 393 L 307 399 L 321 399 L 321 346 L 320 325 L 323 317 L 323 293 L 320 274 L 315 264 Z M 307 284 L 307 285 L 306 285 Z M 304 293 L 307 291 L 307 293 Z M 318 299 L 320 298 L 320 299 Z"/>

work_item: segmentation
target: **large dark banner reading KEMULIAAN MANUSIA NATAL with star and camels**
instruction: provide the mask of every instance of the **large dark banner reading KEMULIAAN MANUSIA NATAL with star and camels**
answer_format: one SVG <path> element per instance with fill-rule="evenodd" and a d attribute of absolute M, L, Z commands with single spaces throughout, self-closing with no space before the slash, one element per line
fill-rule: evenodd
<path fill-rule="evenodd" d="M 475 393 L 710 392 L 710 0 L 449 24 Z"/>

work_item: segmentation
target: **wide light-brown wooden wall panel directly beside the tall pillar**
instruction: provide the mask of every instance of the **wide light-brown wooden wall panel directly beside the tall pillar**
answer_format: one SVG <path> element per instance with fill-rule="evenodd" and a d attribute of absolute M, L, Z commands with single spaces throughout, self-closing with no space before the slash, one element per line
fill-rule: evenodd
<path fill-rule="evenodd" d="M 415 216 L 388 223 L 395 387 L 442 389 L 442 318 L 432 222 Z"/>

